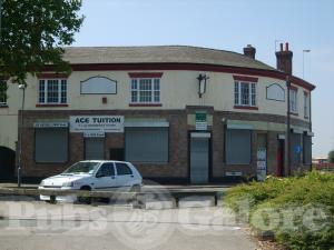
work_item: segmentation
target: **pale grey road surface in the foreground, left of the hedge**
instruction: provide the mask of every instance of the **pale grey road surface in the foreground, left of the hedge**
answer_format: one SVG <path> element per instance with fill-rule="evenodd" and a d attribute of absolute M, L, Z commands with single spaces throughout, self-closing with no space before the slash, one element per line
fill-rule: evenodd
<path fill-rule="evenodd" d="M 1 250 L 254 250 L 256 247 L 236 218 L 222 207 L 139 210 L 127 206 L 0 202 Z"/>

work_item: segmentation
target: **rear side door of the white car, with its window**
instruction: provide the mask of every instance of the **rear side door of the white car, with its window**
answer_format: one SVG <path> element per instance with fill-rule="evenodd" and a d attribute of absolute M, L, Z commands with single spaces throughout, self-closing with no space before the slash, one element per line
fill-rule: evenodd
<path fill-rule="evenodd" d="M 117 172 L 117 183 L 120 190 L 128 191 L 131 189 L 135 180 L 132 170 L 127 163 L 115 162 Z"/>

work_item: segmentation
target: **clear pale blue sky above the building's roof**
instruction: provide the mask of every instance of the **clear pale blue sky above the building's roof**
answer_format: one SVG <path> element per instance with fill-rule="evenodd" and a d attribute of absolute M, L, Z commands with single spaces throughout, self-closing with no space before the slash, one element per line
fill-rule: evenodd
<path fill-rule="evenodd" d="M 304 71 L 316 86 L 313 157 L 334 149 L 334 0 L 84 0 L 81 12 L 73 46 L 181 44 L 243 53 L 252 44 L 257 60 L 276 67 L 275 48 L 288 42 L 293 74 L 303 78 Z"/>

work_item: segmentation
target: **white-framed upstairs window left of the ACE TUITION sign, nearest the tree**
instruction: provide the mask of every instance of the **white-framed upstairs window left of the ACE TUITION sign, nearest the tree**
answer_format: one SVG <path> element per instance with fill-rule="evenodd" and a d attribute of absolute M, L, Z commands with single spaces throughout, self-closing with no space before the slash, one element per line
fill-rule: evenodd
<path fill-rule="evenodd" d="M 39 80 L 39 103 L 67 103 L 66 79 Z"/>

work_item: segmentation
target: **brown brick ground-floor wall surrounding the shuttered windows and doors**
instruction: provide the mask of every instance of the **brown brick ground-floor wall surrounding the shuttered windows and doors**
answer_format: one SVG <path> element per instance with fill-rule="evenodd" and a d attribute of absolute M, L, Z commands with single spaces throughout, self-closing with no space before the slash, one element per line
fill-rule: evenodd
<path fill-rule="evenodd" d="M 73 111 L 73 110 L 47 110 L 47 111 L 26 111 L 24 130 L 22 137 L 22 174 L 23 177 L 48 177 L 63 171 L 76 161 L 82 160 L 84 156 L 84 136 L 82 133 L 69 133 L 69 159 L 66 163 L 37 163 L 35 162 L 35 129 L 33 123 L 41 120 L 68 120 L 70 116 L 125 116 L 126 119 L 165 119 L 169 122 L 169 161 L 166 164 L 136 163 L 137 168 L 145 178 L 168 178 L 184 179 L 189 178 L 188 160 L 188 136 L 194 126 L 187 124 L 187 114 L 195 113 L 197 107 L 185 110 L 100 110 L 100 111 Z M 205 109 L 200 107 L 200 110 Z M 258 120 L 285 123 L 285 118 L 272 114 L 249 114 L 240 112 L 214 111 L 212 107 L 207 112 L 213 116 L 212 130 L 212 168 L 210 178 L 220 179 L 226 172 L 243 172 L 243 176 L 256 176 L 256 150 L 257 134 L 265 133 L 267 139 L 267 172 L 276 174 L 277 171 L 277 133 L 275 131 L 253 131 L 252 133 L 252 162 L 247 166 L 228 166 L 224 159 L 224 122 L 225 119 L 235 120 Z M 299 120 L 293 120 L 293 124 L 307 126 Z M 105 156 L 109 159 L 110 148 L 124 148 L 124 133 L 107 133 L 105 144 Z M 306 168 L 298 166 L 297 168 Z"/>

